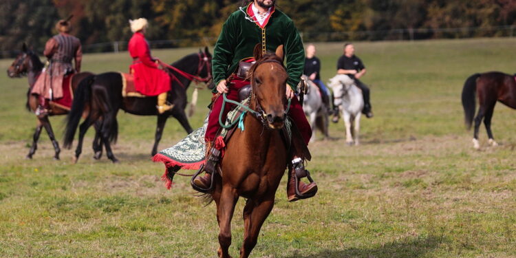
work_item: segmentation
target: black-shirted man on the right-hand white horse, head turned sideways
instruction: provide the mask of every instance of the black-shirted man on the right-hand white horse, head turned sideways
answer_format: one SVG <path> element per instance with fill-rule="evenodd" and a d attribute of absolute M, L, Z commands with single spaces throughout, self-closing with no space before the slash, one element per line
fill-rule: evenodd
<path fill-rule="evenodd" d="M 362 109 L 362 113 L 365 114 L 367 118 L 372 118 L 373 112 L 371 110 L 371 103 L 369 103 L 369 88 L 358 80 L 365 74 L 365 66 L 360 58 L 355 56 L 355 48 L 351 43 L 345 43 L 344 54 L 341 58 L 338 58 L 337 74 L 346 74 L 355 80 L 356 86 L 362 90 L 364 96 L 364 108 Z"/>

